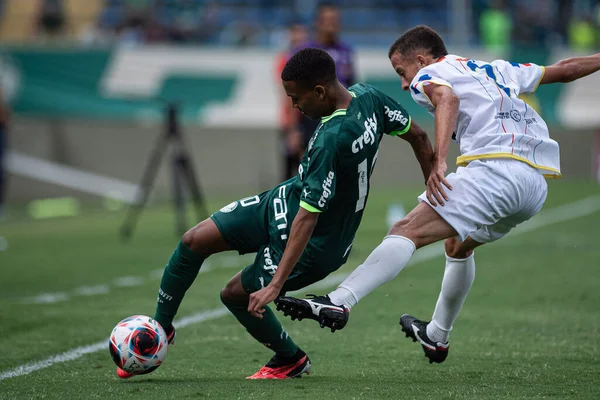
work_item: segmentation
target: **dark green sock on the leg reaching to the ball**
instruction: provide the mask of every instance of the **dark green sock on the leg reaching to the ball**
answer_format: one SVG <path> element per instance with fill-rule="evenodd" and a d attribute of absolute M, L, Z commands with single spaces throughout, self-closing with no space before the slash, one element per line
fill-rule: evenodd
<path fill-rule="evenodd" d="M 154 319 L 164 329 L 168 329 L 173 322 L 185 292 L 194 283 L 194 279 L 198 276 L 198 271 L 207 257 L 194 253 L 181 241 L 171 255 L 160 282 L 158 304 L 154 314 Z"/>

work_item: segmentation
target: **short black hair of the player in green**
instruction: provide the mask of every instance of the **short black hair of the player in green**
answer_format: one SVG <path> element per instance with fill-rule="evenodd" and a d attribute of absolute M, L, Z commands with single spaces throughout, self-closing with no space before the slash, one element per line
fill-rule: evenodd
<path fill-rule="evenodd" d="M 335 62 L 326 51 L 306 48 L 294 54 L 283 67 L 281 79 L 313 88 L 335 81 Z"/>

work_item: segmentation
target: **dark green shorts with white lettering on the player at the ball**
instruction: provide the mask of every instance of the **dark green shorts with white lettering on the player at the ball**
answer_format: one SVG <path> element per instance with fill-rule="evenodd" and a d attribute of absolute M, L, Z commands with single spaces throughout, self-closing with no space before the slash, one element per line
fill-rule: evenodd
<path fill-rule="evenodd" d="M 253 197 L 234 201 L 211 215 L 211 219 L 233 250 L 257 253 L 254 263 L 242 271 L 242 285 L 249 293 L 271 282 L 281 260 L 292 221 L 298 209 L 289 209 L 286 195 L 292 183 Z M 303 256 L 304 258 L 304 256 Z M 300 259 L 283 291 L 293 291 L 320 281 L 341 265 L 303 262 Z"/>

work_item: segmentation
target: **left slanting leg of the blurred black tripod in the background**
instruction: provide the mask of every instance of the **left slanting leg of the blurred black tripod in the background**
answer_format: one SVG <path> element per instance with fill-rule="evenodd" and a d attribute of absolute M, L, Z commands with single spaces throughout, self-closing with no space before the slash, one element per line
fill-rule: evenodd
<path fill-rule="evenodd" d="M 160 162 L 165 153 L 166 146 L 168 144 L 168 137 L 164 134 L 160 134 L 154 149 L 150 155 L 150 159 L 148 160 L 148 164 L 146 165 L 146 169 L 144 171 L 144 175 L 142 176 L 142 180 L 140 182 L 140 188 L 137 193 L 137 198 L 135 203 L 129 206 L 127 210 L 127 215 L 125 217 L 125 221 L 121 226 L 121 236 L 124 239 L 129 239 L 133 235 L 133 230 L 137 223 L 140 213 L 142 209 L 148 202 L 148 198 L 150 197 L 150 191 L 154 186 L 154 180 L 156 179 L 156 173 L 158 172 L 158 168 L 160 166 Z"/>

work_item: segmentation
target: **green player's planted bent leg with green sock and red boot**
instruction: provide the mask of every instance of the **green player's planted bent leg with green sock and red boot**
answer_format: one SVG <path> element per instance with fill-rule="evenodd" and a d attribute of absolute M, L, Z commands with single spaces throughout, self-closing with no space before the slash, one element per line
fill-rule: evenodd
<path fill-rule="evenodd" d="M 287 379 L 310 372 L 310 360 L 283 329 L 270 307 L 265 307 L 262 319 L 248 312 L 249 291 L 242 284 L 242 273 L 237 273 L 221 291 L 221 301 L 256 340 L 275 352 L 271 360 L 247 379 Z"/>

